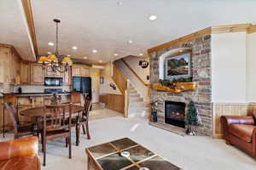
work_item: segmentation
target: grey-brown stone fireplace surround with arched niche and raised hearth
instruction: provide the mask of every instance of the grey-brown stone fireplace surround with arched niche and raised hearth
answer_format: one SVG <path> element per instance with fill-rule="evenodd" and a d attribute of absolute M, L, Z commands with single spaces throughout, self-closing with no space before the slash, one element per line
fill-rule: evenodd
<path fill-rule="evenodd" d="M 175 40 L 173 41 L 175 42 Z M 159 83 L 163 74 L 163 56 L 181 52 L 184 49 L 190 50 L 191 54 L 191 77 L 196 82 L 195 91 L 184 91 L 173 93 L 160 90 L 152 90 L 150 93 L 151 102 L 157 102 L 157 122 L 150 121 L 150 125 L 160 127 L 173 133 L 183 132 L 186 128 L 186 113 L 190 101 L 195 102 L 196 110 L 200 120 L 198 133 L 211 135 L 212 133 L 212 87 L 211 87 L 211 35 L 196 37 L 187 42 L 170 43 L 171 47 L 156 49 L 150 52 L 150 83 Z M 167 107 L 166 106 L 167 102 Z M 177 105 L 172 110 L 173 104 Z M 171 108 L 171 109 L 170 109 Z M 166 111 L 167 110 L 167 111 Z M 173 114 L 172 114 L 173 112 Z"/>

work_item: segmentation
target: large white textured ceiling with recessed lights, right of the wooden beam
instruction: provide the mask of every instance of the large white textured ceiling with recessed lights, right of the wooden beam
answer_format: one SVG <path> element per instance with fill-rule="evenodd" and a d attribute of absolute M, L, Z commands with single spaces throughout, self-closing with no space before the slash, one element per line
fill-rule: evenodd
<path fill-rule="evenodd" d="M 256 24 L 255 0 L 32 0 L 32 8 L 39 54 L 55 52 L 48 42 L 55 42 L 52 20 L 57 18 L 61 20 L 61 54 L 79 59 L 87 56 L 94 62 L 145 54 L 148 48 L 209 26 Z M 12 12 L 0 13 L 2 21 L 3 16 Z M 158 19 L 148 20 L 150 14 Z M 3 29 L 15 31 L 16 35 L 22 32 L 20 25 L 8 22 Z M 22 39 L 20 43 L 26 43 Z M 78 50 L 74 51 L 73 46 Z M 92 49 L 98 53 L 93 54 Z M 22 50 L 25 54 L 27 48 Z M 114 53 L 119 56 L 113 56 Z"/>

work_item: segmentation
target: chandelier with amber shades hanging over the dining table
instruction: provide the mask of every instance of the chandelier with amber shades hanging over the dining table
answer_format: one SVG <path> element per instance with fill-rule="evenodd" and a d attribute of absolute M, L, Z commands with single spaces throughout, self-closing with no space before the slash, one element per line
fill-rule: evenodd
<path fill-rule="evenodd" d="M 68 67 L 73 64 L 72 60 L 67 57 L 66 55 L 59 54 L 58 51 L 58 42 L 59 42 L 59 27 L 58 24 L 61 22 L 61 20 L 53 20 L 56 23 L 56 48 L 55 48 L 55 54 L 49 54 L 46 56 L 41 56 L 38 59 L 38 63 L 42 63 L 45 65 L 50 65 L 52 71 L 56 72 L 65 72 L 68 71 Z"/>

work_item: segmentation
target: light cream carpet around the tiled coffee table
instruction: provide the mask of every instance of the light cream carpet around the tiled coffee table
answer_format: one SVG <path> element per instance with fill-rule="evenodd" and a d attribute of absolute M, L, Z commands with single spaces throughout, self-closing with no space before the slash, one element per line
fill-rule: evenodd
<path fill-rule="evenodd" d="M 255 159 L 233 146 L 224 144 L 224 140 L 204 136 L 182 137 L 149 126 L 145 120 L 121 116 L 92 120 L 90 121 L 90 134 L 90 140 L 81 134 L 80 144 L 75 146 L 75 133 L 73 132 L 72 159 L 67 157 L 68 149 L 64 147 L 64 139 L 50 142 L 47 148 L 47 165 L 42 169 L 86 170 L 85 147 L 125 137 L 137 141 L 184 170 L 256 169 Z M 42 152 L 39 154 L 43 161 Z"/>

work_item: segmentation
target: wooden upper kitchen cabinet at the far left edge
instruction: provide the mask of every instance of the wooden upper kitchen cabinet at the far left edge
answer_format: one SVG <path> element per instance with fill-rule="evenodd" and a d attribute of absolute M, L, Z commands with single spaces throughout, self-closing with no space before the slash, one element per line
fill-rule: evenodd
<path fill-rule="evenodd" d="M 11 45 L 0 44 L 0 82 L 20 81 L 20 55 Z"/>

